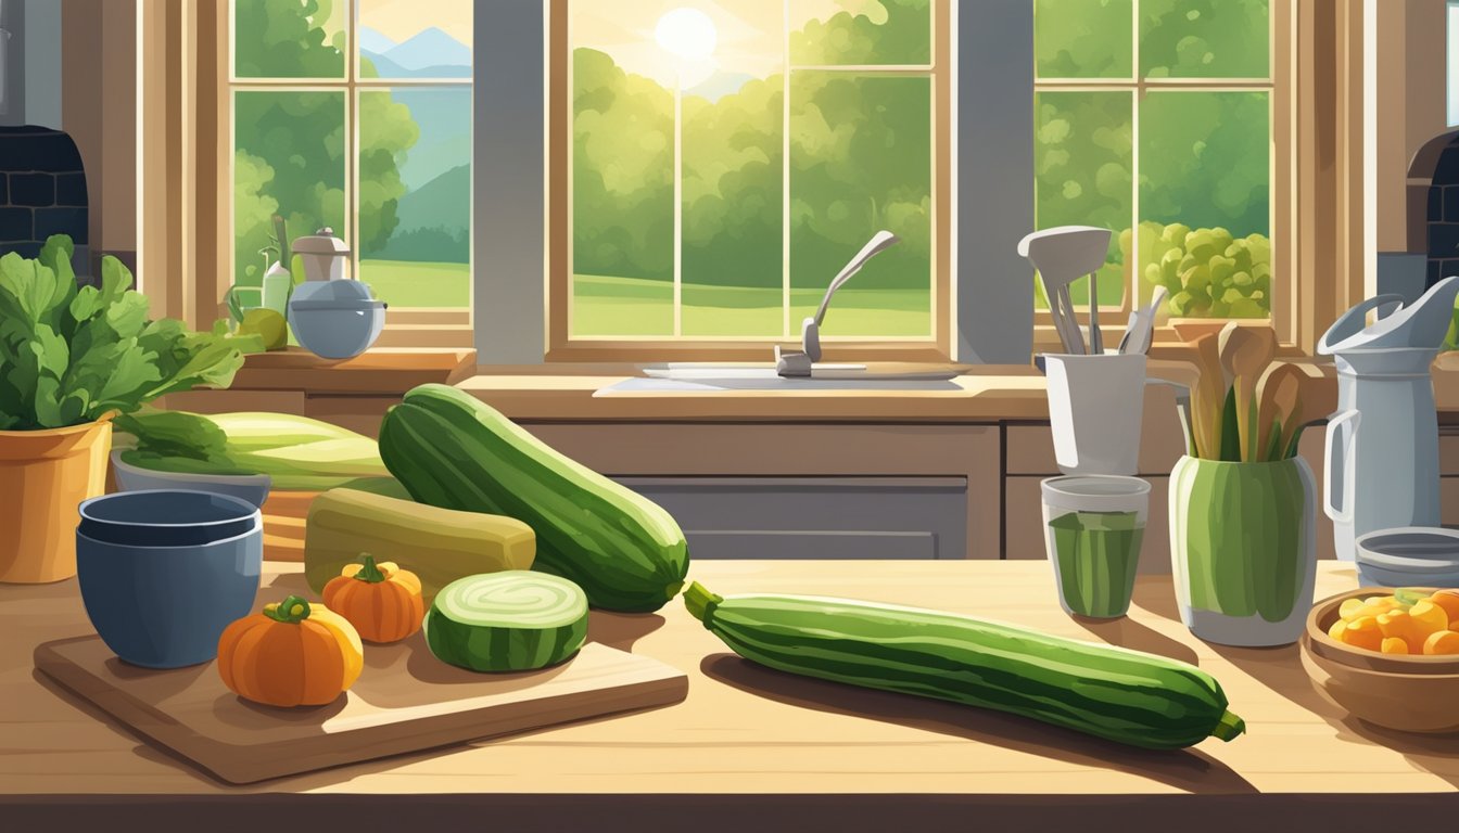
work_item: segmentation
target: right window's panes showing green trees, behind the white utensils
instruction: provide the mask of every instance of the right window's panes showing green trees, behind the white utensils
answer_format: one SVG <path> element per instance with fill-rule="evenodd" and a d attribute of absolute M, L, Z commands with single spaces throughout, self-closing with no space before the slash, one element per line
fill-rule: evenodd
<path fill-rule="evenodd" d="M 1272 315 L 1287 179 L 1272 6 L 1284 3 L 1034 0 L 1036 223 L 1115 230 L 1102 318 L 1123 322 L 1156 286 L 1176 318 Z M 1087 284 L 1071 287 L 1080 306 Z M 1037 283 L 1036 296 L 1046 311 Z"/>

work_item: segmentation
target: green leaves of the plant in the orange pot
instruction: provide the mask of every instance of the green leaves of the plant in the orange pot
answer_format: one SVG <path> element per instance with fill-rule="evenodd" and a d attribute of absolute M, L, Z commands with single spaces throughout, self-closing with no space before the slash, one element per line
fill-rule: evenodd
<path fill-rule="evenodd" d="M 149 321 L 147 298 L 114 257 L 101 261 L 99 289 L 77 287 L 73 252 L 54 235 L 36 260 L 0 257 L 0 430 L 82 425 L 174 391 L 226 388 L 242 353 L 263 350 L 226 322 L 194 333 L 175 318 Z"/>

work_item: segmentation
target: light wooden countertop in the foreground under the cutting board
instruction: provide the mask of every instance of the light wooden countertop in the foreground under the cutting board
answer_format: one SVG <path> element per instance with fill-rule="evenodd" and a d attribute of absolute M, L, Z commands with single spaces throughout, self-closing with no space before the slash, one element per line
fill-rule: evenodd
<path fill-rule="evenodd" d="M 303 586 L 266 563 L 261 600 Z M 74 581 L 0 585 L 0 815 L 9 829 L 150 829 L 198 814 L 258 830 L 474 820 L 516 830 L 856 827 L 1015 823 L 1090 830 L 1352 824 L 1386 805 L 1404 829 L 1452 829 L 1459 740 L 1367 727 L 1322 700 L 1296 646 L 1207 645 L 1169 576 L 1141 576 L 1131 616 L 1075 620 L 1045 562 L 699 562 L 722 594 L 808 592 L 988 616 L 1188 662 L 1224 686 L 1249 734 L 1144 751 L 995 712 L 865 691 L 748 664 L 680 603 L 594 613 L 589 639 L 689 674 L 683 703 L 252 786 L 226 786 L 131 735 L 32 670 L 32 651 L 90 632 Z M 1317 597 L 1354 585 L 1323 562 Z M 369 651 L 366 648 L 366 651 Z M 1392 815 L 1393 808 L 1399 815 Z M 1109 817 L 1099 815 L 1109 813 Z M 225 815 L 226 814 L 226 815 Z M 1094 814 L 1094 815 L 1091 815 Z M 1106 820 L 1104 824 L 1090 824 Z M 1424 820 L 1440 827 L 1415 827 Z M 1118 824 L 1118 826 L 1116 826 Z M 216 826 L 210 826 L 217 829 Z"/>

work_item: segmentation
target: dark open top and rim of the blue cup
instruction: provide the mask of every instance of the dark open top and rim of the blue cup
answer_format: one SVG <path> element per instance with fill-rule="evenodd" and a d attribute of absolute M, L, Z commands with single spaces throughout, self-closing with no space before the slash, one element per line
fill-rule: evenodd
<path fill-rule="evenodd" d="M 83 500 L 76 531 L 133 547 L 187 547 L 235 538 L 260 518 L 258 508 L 212 492 L 158 489 Z"/>

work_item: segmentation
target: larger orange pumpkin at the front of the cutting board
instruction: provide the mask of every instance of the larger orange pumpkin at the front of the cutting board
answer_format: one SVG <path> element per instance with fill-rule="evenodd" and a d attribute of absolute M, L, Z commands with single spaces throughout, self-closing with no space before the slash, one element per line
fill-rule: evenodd
<path fill-rule="evenodd" d="M 331 703 L 363 668 L 365 649 L 355 626 L 296 595 L 233 621 L 217 639 L 223 684 L 268 706 Z"/>

